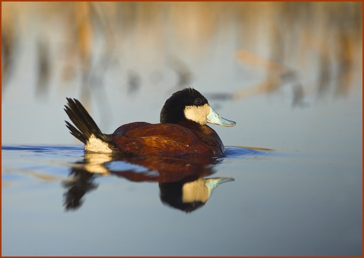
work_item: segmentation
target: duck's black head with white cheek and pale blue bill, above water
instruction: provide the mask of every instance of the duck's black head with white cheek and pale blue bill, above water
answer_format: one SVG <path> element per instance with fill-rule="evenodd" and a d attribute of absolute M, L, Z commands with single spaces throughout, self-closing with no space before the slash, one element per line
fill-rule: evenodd
<path fill-rule="evenodd" d="M 173 93 L 160 111 L 160 123 L 178 124 L 182 121 L 195 121 L 222 126 L 234 126 L 234 121 L 221 117 L 210 106 L 208 100 L 197 90 L 185 88 Z"/>

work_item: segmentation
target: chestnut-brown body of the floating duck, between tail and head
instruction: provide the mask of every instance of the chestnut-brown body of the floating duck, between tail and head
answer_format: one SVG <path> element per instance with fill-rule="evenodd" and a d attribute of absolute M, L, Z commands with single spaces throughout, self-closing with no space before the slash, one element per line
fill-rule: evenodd
<path fill-rule="evenodd" d="M 108 136 L 120 150 L 133 156 L 223 155 L 225 147 L 210 126 L 193 121 L 180 124 L 134 122 L 120 126 Z"/>

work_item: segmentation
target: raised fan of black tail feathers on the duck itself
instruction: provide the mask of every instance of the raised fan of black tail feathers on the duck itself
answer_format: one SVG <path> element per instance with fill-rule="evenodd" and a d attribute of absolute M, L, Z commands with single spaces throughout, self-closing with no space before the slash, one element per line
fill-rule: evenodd
<path fill-rule="evenodd" d="M 64 110 L 78 129 L 77 130 L 69 122 L 65 121 L 67 128 L 70 129 L 70 133 L 73 136 L 86 144 L 87 140 L 90 139 L 91 135 L 93 134 L 100 140 L 110 144 L 111 146 L 114 146 L 113 141 L 107 135 L 101 132 L 100 128 L 96 125 L 90 114 L 77 99 L 66 99 L 68 101 L 68 106 L 65 105 Z"/>

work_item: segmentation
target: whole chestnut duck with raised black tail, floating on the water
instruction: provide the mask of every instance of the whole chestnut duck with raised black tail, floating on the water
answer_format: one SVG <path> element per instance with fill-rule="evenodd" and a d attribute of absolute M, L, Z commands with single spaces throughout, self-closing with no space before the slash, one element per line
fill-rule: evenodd
<path fill-rule="evenodd" d="M 221 157 L 225 147 L 219 135 L 206 123 L 236 124 L 217 114 L 208 100 L 192 88 L 178 91 L 165 101 L 160 112 L 160 124 L 134 122 L 120 126 L 112 134 L 103 134 L 78 100 L 67 100 L 65 111 L 77 129 L 66 121 L 67 127 L 85 144 L 88 152 L 128 157 Z"/>

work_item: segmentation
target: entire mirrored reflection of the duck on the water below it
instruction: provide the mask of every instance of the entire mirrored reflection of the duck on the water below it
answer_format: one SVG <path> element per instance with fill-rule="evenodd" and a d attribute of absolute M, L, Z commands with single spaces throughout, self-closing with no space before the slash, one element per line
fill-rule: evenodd
<path fill-rule="evenodd" d="M 79 208 L 86 192 L 97 188 L 98 175 L 116 175 L 133 182 L 158 182 L 163 204 L 191 212 L 203 206 L 213 189 L 234 178 L 204 178 L 215 173 L 221 159 L 194 157 L 180 159 L 148 156 L 122 158 L 104 153 L 85 153 L 84 160 L 71 168 L 72 180 L 63 186 L 66 210 Z M 130 168 L 134 165 L 134 168 Z M 143 169 L 141 169 L 141 167 Z"/>

